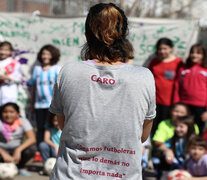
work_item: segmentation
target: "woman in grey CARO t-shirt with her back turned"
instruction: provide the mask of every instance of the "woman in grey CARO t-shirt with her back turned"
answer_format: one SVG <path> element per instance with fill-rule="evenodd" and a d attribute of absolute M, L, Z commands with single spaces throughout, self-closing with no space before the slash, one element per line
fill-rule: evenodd
<path fill-rule="evenodd" d="M 141 180 L 142 146 L 155 117 L 151 72 L 127 64 L 133 48 L 116 5 L 90 8 L 83 62 L 66 64 L 50 112 L 63 129 L 50 179 Z"/>

